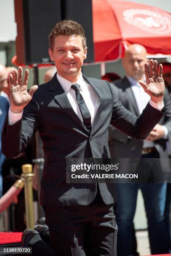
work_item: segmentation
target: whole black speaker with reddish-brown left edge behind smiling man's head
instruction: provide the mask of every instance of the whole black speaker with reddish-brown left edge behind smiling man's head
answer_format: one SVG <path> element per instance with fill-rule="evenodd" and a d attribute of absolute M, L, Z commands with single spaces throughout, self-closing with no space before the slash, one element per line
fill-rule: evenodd
<path fill-rule="evenodd" d="M 63 19 L 76 20 L 83 26 L 88 46 L 85 61 L 94 61 L 91 0 L 15 0 L 18 63 L 51 63 L 48 35 Z"/>

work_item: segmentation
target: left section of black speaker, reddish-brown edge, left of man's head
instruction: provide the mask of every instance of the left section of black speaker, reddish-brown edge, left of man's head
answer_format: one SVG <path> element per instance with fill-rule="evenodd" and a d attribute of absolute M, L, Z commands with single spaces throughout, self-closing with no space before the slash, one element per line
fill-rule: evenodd
<path fill-rule="evenodd" d="M 60 0 L 15 0 L 18 63 L 49 63 L 48 35 L 61 20 Z"/>

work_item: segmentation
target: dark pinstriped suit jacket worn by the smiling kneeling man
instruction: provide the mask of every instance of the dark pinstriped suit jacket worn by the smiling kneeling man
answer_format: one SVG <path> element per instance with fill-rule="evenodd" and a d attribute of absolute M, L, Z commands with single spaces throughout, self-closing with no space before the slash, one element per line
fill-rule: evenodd
<path fill-rule="evenodd" d="M 66 159 L 90 156 L 109 158 L 110 122 L 128 136 L 143 140 L 166 111 L 163 108 L 160 112 L 148 104 L 144 114 L 137 119 L 116 99 L 108 82 L 85 76 L 84 79 L 101 99 L 91 133 L 75 114 L 56 74 L 50 82 L 39 86 L 20 121 L 14 125 L 8 125 L 8 121 L 5 123 L 3 152 L 8 157 L 17 156 L 34 133 L 37 130 L 40 133 L 45 151 L 40 196 L 42 205 L 91 204 L 96 197 L 97 184 L 67 184 Z M 115 201 L 113 184 L 101 183 L 99 189 L 107 205 Z"/>

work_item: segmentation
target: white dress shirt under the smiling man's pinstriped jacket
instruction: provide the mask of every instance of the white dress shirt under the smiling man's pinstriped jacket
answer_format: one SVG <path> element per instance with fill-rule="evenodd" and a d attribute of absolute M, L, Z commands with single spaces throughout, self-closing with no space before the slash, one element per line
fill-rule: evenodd
<path fill-rule="evenodd" d="M 65 91 L 73 110 L 78 115 L 80 120 L 83 121 L 82 115 L 80 113 L 80 108 L 78 106 L 78 103 L 75 97 L 75 91 L 72 88 L 70 88 L 73 83 L 71 83 L 70 81 L 66 80 L 63 77 L 60 77 L 58 73 L 57 73 L 57 79 L 60 85 L 63 87 L 63 90 Z M 82 73 L 75 84 L 80 85 L 79 91 L 80 91 L 80 94 L 83 96 L 83 99 L 85 101 L 85 104 L 87 105 L 88 110 L 90 111 L 91 125 L 92 125 L 94 118 L 96 116 L 98 107 L 100 105 L 100 97 L 97 95 L 93 87 L 83 79 Z M 14 123 L 16 123 L 22 118 L 22 115 L 23 115 L 23 112 L 15 114 L 9 109 L 8 123 L 10 125 L 13 125 Z"/>

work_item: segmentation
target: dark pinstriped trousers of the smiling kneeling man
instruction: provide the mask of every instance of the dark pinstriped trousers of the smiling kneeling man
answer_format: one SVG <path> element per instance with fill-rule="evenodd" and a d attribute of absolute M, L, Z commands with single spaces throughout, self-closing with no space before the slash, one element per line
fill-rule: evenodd
<path fill-rule="evenodd" d="M 90 205 L 44 206 L 55 255 L 116 256 L 117 225 L 113 206 L 103 203 L 99 187 Z"/>

